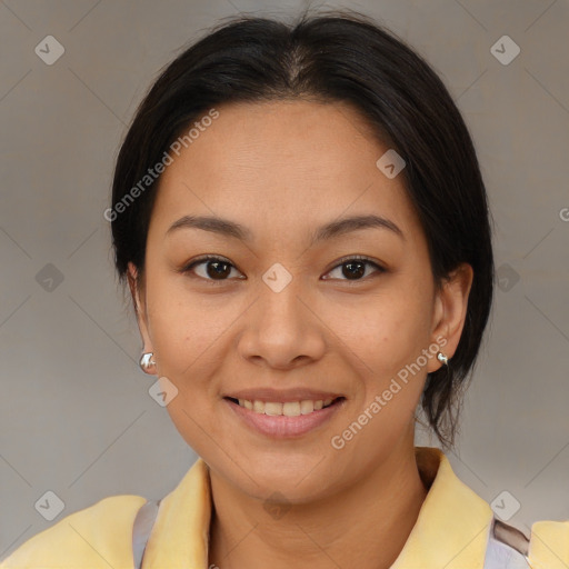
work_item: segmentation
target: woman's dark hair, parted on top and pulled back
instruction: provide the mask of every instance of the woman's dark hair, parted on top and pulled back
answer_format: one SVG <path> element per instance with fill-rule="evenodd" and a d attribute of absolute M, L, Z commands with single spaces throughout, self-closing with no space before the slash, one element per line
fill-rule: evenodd
<path fill-rule="evenodd" d="M 239 16 L 210 29 L 167 66 L 139 106 L 117 159 L 112 208 L 180 132 L 212 108 L 279 99 L 350 103 L 407 163 L 399 176 L 425 231 L 436 284 L 461 262 L 473 269 L 456 353 L 448 367 L 429 373 L 421 399 L 430 427 L 449 448 L 492 306 L 491 213 L 472 140 L 452 98 L 391 31 L 352 10 L 305 12 L 292 23 Z M 112 218 L 123 284 L 129 261 L 138 269 L 137 286 L 143 282 L 158 181 Z"/>

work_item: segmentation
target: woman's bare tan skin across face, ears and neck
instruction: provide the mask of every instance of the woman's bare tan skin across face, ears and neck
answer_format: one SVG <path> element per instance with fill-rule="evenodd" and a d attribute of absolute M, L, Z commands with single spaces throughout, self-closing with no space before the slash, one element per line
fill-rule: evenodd
<path fill-rule="evenodd" d="M 413 415 L 427 373 L 441 363 L 428 358 L 342 449 L 330 441 L 437 338 L 452 357 L 472 269 L 459 267 L 436 288 L 402 174 L 388 179 L 376 167 L 388 147 L 351 107 L 295 100 L 218 110 L 162 174 L 143 278 L 132 264 L 129 272 L 143 349 L 154 353 L 156 375 L 178 389 L 168 412 L 210 467 L 209 562 L 388 568 L 427 493 Z M 369 213 L 391 220 L 405 239 L 368 228 L 309 247 L 316 228 Z M 194 228 L 167 236 L 186 214 L 228 218 L 253 238 Z M 213 271 L 208 280 L 207 263 L 180 272 L 204 253 L 230 261 L 226 280 Z M 386 271 L 366 266 L 350 279 L 339 260 L 352 254 Z M 262 280 L 276 262 L 292 277 L 278 293 Z M 346 401 L 293 440 L 252 431 L 222 399 L 241 388 L 306 386 Z M 280 517 L 263 508 L 276 491 Z"/>

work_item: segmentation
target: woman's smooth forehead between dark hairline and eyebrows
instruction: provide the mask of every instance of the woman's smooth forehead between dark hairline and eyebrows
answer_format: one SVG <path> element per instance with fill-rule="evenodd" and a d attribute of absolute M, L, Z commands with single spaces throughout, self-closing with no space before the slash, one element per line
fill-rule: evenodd
<path fill-rule="evenodd" d="M 161 176 L 152 223 L 163 231 L 196 211 L 273 228 L 347 213 L 389 217 L 406 232 L 417 224 L 402 174 L 389 179 L 376 166 L 389 147 L 352 107 L 295 100 L 216 110 L 211 121 L 196 119 L 201 128 Z"/>

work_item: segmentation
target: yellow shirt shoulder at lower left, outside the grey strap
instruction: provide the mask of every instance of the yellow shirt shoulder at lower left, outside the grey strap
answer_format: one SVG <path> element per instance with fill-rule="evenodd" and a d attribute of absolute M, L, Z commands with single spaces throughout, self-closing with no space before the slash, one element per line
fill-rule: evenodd
<path fill-rule="evenodd" d="M 70 513 L 22 543 L 0 569 L 132 567 L 132 525 L 146 498 L 110 496 Z"/>

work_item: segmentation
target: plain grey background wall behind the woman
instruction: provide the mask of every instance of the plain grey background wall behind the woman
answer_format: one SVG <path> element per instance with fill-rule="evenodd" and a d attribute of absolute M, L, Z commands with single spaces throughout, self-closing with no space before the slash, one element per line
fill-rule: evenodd
<path fill-rule="evenodd" d="M 500 286 L 449 453 L 455 471 L 489 502 L 508 490 L 521 505 L 510 523 L 526 532 L 568 519 L 569 3 L 322 6 L 361 10 L 417 48 L 479 152 Z M 112 166 L 136 106 L 182 46 L 238 11 L 302 7 L 0 2 L 0 558 L 107 496 L 161 497 L 194 461 L 138 369 L 102 216 Z M 34 53 L 48 34 L 66 49 L 52 66 Z M 490 52 L 503 34 L 521 49 L 509 64 Z M 419 433 L 418 443 L 436 441 Z M 53 521 L 34 508 L 48 490 L 64 502 Z"/>

